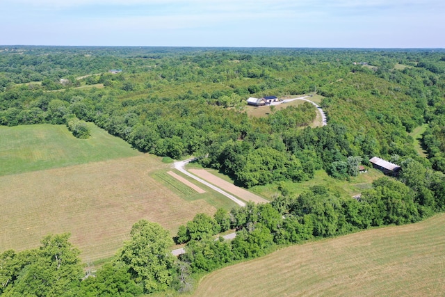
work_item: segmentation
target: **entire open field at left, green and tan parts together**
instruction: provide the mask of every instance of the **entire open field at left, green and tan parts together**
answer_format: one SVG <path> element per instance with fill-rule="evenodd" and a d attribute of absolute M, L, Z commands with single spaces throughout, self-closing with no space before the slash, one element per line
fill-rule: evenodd
<path fill-rule="evenodd" d="M 195 214 L 226 207 L 176 179 L 158 179 L 171 164 L 133 150 L 91 125 L 77 139 L 64 125 L 0 127 L 0 252 L 40 246 L 70 232 L 85 261 L 111 256 L 141 218 L 172 235 Z"/>

